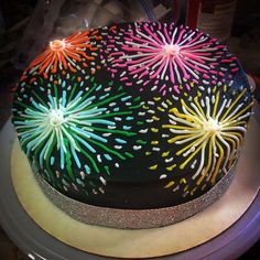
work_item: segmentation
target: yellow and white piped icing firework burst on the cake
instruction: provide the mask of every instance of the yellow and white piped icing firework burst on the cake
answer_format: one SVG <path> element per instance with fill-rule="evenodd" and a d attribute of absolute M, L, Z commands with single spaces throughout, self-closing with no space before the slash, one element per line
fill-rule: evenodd
<path fill-rule="evenodd" d="M 198 188 L 215 185 L 237 161 L 252 102 L 246 88 L 232 94 L 226 89 L 224 94 L 217 87 L 209 87 L 189 99 L 180 98 L 180 108 L 170 99 L 161 101 L 160 97 L 154 98 L 154 110 L 149 107 L 150 111 L 158 113 L 158 120 L 159 115 L 169 117 L 169 123 L 162 123 L 161 129 L 151 129 L 152 132 L 162 132 L 162 138 L 172 145 L 162 151 L 163 141 L 151 142 L 152 151 L 158 151 L 164 160 L 164 169 L 160 169 L 158 163 L 149 167 L 163 171 L 160 180 L 163 180 L 165 188 L 173 192 L 182 188 L 184 197 L 192 196 Z M 193 181 L 189 184 L 187 172 Z M 181 177 L 174 178 L 177 173 Z"/>

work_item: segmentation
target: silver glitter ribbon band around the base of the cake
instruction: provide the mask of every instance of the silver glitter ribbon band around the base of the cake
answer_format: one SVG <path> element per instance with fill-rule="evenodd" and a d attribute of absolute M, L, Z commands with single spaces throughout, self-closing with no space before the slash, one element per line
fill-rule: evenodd
<path fill-rule="evenodd" d="M 234 178 L 235 170 L 236 165 L 213 188 L 193 201 L 153 209 L 118 209 L 84 204 L 61 194 L 40 175 L 35 175 L 35 178 L 55 206 L 82 223 L 110 228 L 147 229 L 173 225 L 208 207 L 225 194 Z"/>

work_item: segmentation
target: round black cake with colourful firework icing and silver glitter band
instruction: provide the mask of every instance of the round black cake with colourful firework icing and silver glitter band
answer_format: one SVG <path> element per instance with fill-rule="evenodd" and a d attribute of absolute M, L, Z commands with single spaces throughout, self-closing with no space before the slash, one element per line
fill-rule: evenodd
<path fill-rule="evenodd" d="M 55 205 L 88 224 L 147 228 L 219 198 L 251 107 L 243 69 L 216 39 L 136 22 L 51 41 L 18 84 L 12 122 Z"/>

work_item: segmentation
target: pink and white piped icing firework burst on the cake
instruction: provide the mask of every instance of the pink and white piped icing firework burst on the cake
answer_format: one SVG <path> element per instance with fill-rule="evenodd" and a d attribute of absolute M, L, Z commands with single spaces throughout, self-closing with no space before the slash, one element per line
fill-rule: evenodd
<path fill-rule="evenodd" d="M 226 52 L 216 39 L 163 23 L 134 23 L 117 32 L 116 41 L 108 36 L 108 69 L 112 76 L 119 73 L 127 85 L 139 84 L 142 90 L 152 84 L 152 90 L 165 95 L 172 90 L 180 94 L 180 89 L 189 89 L 199 80 L 216 82 L 216 66 Z"/>

